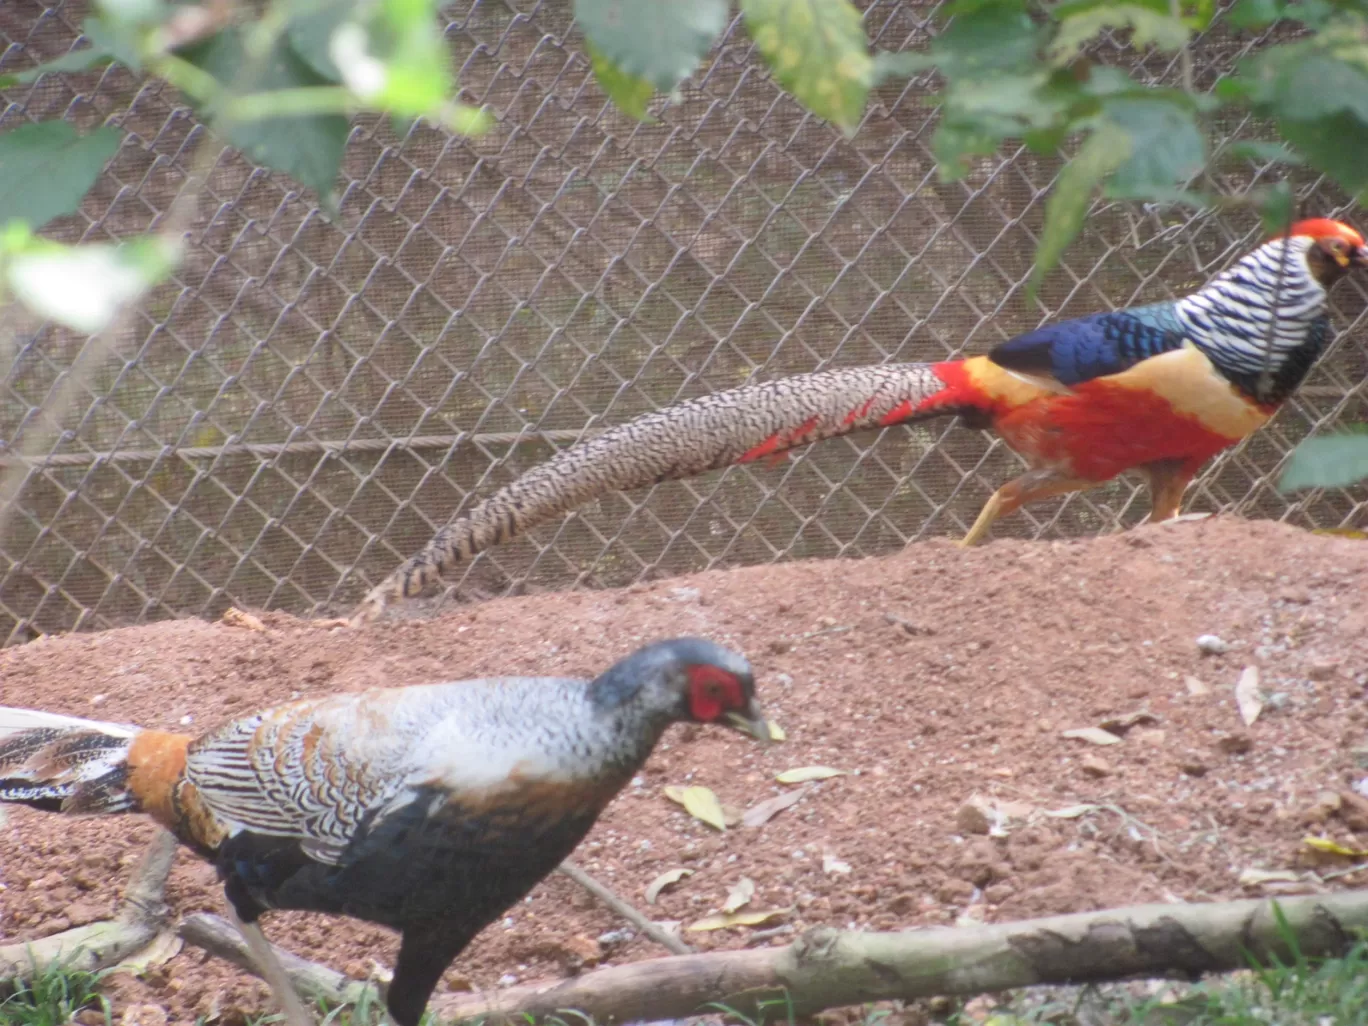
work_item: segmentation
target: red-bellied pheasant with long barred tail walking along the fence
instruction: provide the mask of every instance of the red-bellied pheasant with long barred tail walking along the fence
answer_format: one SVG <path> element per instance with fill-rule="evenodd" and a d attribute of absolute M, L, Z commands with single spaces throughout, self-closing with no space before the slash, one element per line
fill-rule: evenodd
<path fill-rule="evenodd" d="M 959 415 L 1030 465 L 964 536 L 1123 471 L 1152 520 L 1178 513 L 1201 465 L 1263 425 L 1330 341 L 1327 290 L 1368 264 L 1364 238 L 1298 222 L 1201 290 L 1019 335 L 988 356 L 798 375 L 703 395 L 572 446 L 442 528 L 361 603 L 360 624 L 453 566 L 607 491 L 691 477 L 866 428 Z"/>

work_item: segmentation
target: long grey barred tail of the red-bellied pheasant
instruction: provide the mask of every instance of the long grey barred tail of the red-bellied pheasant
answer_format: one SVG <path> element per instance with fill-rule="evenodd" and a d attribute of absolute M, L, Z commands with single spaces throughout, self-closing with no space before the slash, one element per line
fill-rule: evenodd
<path fill-rule="evenodd" d="M 451 568 L 611 491 L 679 480 L 789 449 L 940 413 L 941 364 L 819 371 L 711 393 L 646 413 L 557 453 L 443 527 L 352 614 L 373 620 Z"/>

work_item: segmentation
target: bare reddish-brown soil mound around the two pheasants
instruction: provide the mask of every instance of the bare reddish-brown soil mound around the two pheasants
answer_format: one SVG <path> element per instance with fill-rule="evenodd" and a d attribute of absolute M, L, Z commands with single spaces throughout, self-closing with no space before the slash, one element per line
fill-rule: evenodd
<path fill-rule="evenodd" d="M 1368 844 L 1368 830 L 1350 830 L 1368 828 L 1352 807 L 1306 825 L 1319 792 L 1352 792 L 1365 774 L 1368 544 L 1278 524 L 1181 523 L 971 551 L 930 542 L 882 560 L 501 599 L 358 632 L 265 620 L 265 632 L 183 621 L 41 639 L 0 653 L 0 703 L 171 729 L 193 717 L 186 729 L 197 729 L 295 694 L 588 676 L 643 642 L 705 635 L 751 657 L 788 741 L 766 750 L 676 728 L 576 856 L 642 907 L 661 871 L 695 870 L 653 910 L 670 921 L 715 910 L 741 876 L 757 884 L 752 908 L 792 908 L 785 922 L 796 929 L 1227 899 L 1250 893 L 1242 870 L 1302 865 L 1308 829 Z M 1200 654 L 1204 633 L 1230 651 Z M 1245 666 L 1257 666 L 1274 695 L 1248 731 L 1234 700 Z M 1192 694 L 1187 676 L 1209 694 Z M 1157 722 L 1134 726 L 1122 744 L 1060 737 L 1137 710 Z M 808 765 L 851 776 L 815 785 L 759 829 L 720 834 L 661 793 L 705 784 L 746 808 L 785 789 L 776 773 Z M 1116 811 L 1037 815 L 989 837 L 960 813 L 974 793 Z M 150 834 L 138 818 L 11 810 L 0 829 L 0 936 L 40 937 L 107 915 Z M 824 871 L 828 854 L 850 873 Z M 189 854 L 170 899 L 182 911 L 222 911 L 213 873 Z M 490 928 L 447 984 L 565 974 L 621 926 L 557 876 Z M 357 974 L 394 951 L 391 934 L 350 921 L 272 914 L 265 929 Z M 700 948 L 788 940 L 685 936 Z M 609 943 L 602 958 L 658 953 L 637 938 Z M 145 981 L 116 984 L 115 996 L 163 1005 L 179 1022 L 267 1007 L 259 984 L 193 949 Z"/>

